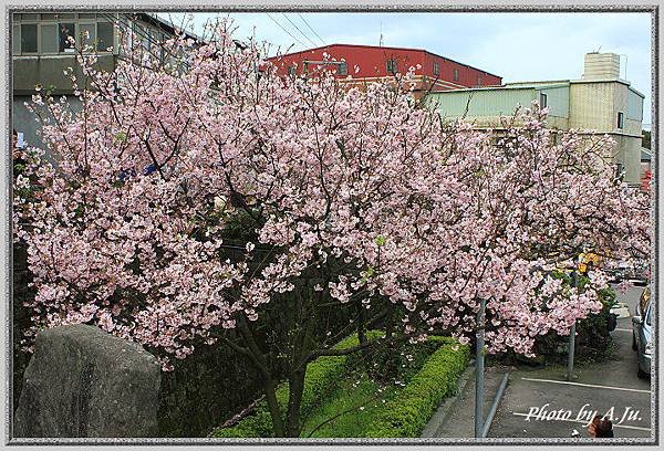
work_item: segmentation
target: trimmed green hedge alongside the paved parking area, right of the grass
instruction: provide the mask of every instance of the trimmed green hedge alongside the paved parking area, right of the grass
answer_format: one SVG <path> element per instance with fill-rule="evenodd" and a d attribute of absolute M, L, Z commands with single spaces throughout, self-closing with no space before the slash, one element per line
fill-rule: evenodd
<path fill-rule="evenodd" d="M 385 405 L 365 437 L 419 437 L 440 401 L 456 392 L 460 374 L 468 366 L 469 348 L 445 339 L 396 398 Z"/>

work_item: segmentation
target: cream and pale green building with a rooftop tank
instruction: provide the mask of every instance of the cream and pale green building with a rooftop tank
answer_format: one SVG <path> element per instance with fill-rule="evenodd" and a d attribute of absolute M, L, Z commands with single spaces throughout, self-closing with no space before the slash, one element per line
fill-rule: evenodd
<path fill-rule="evenodd" d="M 549 108 L 551 129 L 587 129 L 610 135 L 612 155 L 629 183 L 641 177 L 644 95 L 620 78 L 620 55 L 588 53 L 580 80 L 507 83 L 501 86 L 430 93 L 427 104 L 449 118 L 465 117 L 477 128 L 500 128 L 500 117 L 532 101 Z"/>

